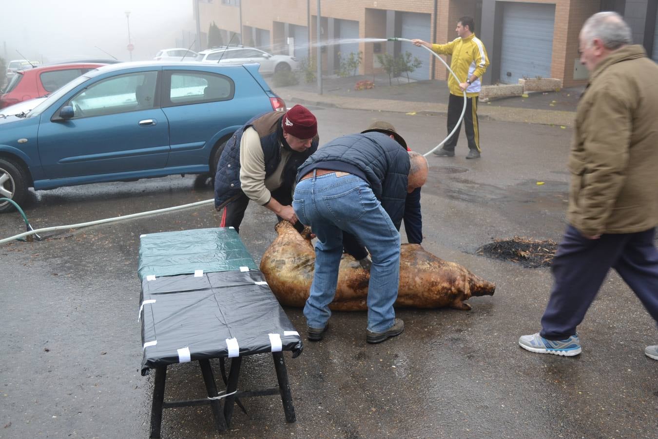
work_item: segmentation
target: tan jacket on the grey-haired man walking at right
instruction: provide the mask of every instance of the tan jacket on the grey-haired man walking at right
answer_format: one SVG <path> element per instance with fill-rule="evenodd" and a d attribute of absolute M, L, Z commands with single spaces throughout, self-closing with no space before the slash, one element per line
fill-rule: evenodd
<path fill-rule="evenodd" d="M 640 45 L 596 66 L 569 157 L 569 223 L 586 236 L 658 224 L 658 65 Z"/>

